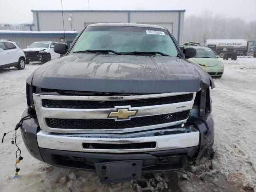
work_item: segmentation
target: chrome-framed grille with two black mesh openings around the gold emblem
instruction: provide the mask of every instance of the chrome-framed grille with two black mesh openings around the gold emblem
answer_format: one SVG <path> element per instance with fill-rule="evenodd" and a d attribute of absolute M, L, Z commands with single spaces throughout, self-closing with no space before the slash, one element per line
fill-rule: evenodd
<path fill-rule="evenodd" d="M 195 92 L 134 96 L 33 94 L 40 128 L 63 133 L 124 133 L 177 125 L 186 122 L 195 96 Z M 137 113 L 129 119 L 109 117 L 117 109 Z"/>

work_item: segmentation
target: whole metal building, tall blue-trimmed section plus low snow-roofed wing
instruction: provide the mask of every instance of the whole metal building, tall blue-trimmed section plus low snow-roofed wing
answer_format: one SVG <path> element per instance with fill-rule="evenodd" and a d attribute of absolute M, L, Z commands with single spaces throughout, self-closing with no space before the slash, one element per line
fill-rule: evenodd
<path fill-rule="evenodd" d="M 0 39 L 12 40 L 22 49 L 36 41 L 64 42 L 61 10 L 31 11 L 33 24 L 0 26 Z M 70 46 L 85 26 L 105 22 L 159 25 L 166 27 L 178 42 L 182 42 L 184 13 L 185 10 L 64 10 L 66 42 Z"/>

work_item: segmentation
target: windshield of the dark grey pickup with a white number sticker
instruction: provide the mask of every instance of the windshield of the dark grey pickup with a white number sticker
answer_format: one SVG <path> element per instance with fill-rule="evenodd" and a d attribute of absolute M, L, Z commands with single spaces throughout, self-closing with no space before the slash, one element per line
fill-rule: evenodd
<path fill-rule="evenodd" d="M 78 38 L 72 52 L 85 50 L 112 50 L 119 53 L 161 52 L 168 56 L 178 55 L 178 50 L 166 30 L 128 26 L 86 28 Z"/>

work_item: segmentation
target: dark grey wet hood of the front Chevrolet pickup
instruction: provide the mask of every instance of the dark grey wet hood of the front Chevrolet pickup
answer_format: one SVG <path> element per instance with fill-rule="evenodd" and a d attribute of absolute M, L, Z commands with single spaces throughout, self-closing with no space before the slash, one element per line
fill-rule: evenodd
<path fill-rule="evenodd" d="M 193 62 L 169 56 L 70 54 L 38 67 L 27 79 L 40 88 L 116 93 L 196 92 L 215 87 Z"/>

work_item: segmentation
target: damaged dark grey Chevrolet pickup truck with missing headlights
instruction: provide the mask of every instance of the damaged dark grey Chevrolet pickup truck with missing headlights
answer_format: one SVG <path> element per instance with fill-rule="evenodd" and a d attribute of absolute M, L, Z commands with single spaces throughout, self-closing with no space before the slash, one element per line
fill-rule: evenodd
<path fill-rule="evenodd" d="M 100 182 L 212 159 L 212 78 L 160 26 L 92 24 L 27 79 L 22 138 L 53 166 Z"/>

